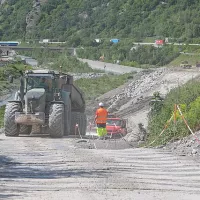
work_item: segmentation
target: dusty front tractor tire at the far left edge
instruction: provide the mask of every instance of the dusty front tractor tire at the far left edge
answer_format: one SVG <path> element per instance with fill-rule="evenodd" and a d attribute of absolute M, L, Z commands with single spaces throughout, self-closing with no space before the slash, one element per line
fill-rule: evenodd
<path fill-rule="evenodd" d="M 21 104 L 10 102 L 6 105 L 4 115 L 5 135 L 16 137 L 19 135 L 20 125 L 15 123 L 15 113 L 21 111 Z"/>

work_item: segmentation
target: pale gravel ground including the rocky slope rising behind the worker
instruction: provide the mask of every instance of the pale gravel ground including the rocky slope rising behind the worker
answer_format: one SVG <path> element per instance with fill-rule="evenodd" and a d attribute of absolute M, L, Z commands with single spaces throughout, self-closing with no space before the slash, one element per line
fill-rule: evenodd
<path fill-rule="evenodd" d="M 181 142 L 175 148 L 137 148 L 138 123 L 146 128 L 153 92 L 166 95 L 198 76 L 196 69 L 139 72 L 124 86 L 88 103 L 88 122 L 99 101 L 105 102 L 111 112 L 128 118 L 129 133 L 125 138 L 10 138 L 4 136 L 2 129 L 0 199 L 199 199 L 199 159 L 174 151 Z M 88 126 L 87 135 L 90 133 Z"/>

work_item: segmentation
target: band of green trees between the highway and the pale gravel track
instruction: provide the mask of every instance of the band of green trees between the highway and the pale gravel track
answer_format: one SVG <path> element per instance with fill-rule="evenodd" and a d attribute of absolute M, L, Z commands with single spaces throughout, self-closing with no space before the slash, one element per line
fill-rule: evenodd
<path fill-rule="evenodd" d="M 104 55 L 106 62 L 149 68 L 150 66 L 159 67 L 166 65 L 179 56 L 179 49 L 174 46 L 165 45 L 162 48 L 153 46 L 138 46 L 132 48 L 131 44 L 101 44 L 98 47 L 88 47 L 77 50 L 78 56 L 92 60 L 98 60 Z"/>

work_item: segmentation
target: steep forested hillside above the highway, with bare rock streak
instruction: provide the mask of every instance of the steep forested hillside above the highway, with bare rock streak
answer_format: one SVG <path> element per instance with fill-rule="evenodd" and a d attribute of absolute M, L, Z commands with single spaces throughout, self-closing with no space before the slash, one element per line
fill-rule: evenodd
<path fill-rule="evenodd" d="M 60 39 L 75 46 L 113 37 L 199 41 L 199 7 L 198 0 L 6 0 L 0 39 Z"/>

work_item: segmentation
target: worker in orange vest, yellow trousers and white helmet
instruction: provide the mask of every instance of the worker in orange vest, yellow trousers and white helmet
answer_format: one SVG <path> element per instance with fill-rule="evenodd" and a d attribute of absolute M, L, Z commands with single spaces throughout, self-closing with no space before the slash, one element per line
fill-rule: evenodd
<path fill-rule="evenodd" d="M 97 124 L 97 135 L 100 139 L 107 135 L 106 121 L 107 121 L 108 111 L 104 108 L 104 104 L 99 103 L 99 108 L 96 111 L 95 122 Z"/>

